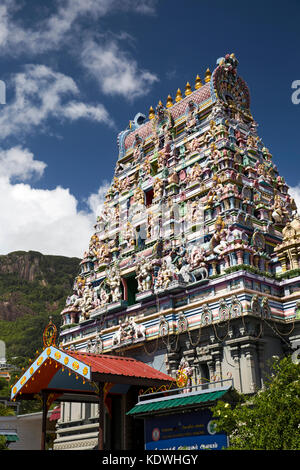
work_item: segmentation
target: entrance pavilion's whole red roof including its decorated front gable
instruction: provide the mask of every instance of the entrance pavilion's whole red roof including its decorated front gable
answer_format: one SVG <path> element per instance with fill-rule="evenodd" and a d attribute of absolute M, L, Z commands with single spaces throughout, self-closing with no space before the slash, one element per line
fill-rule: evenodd
<path fill-rule="evenodd" d="M 78 380 L 72 381 L 74 375 L 76 379 L 81 377 L 82 384 Z M 67 395 L 70 398 L 70 394 L 95 396 L 96 383 L 153 387 L 173 381 L 169 375 L 130 357 L 91 354 L 49 346 L 12 387 L 11 398 L 16 399 L 22 394 L 23 399 L 31 399 L 44 390 L 63 400 Z"/>

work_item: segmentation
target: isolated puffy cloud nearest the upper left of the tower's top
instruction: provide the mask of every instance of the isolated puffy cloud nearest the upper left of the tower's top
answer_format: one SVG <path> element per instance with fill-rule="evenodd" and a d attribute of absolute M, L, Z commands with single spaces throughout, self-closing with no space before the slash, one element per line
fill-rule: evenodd
<path fill-rule="evenodd" d="M 158 77 L 138 67 L 137 62 L 121 50 L 114 40 L 108 43 L 85 43 L 82 64 L 98 81 L 101 91 L 106 95 L 122 95 L 134 99 L 145 95 Z"/>

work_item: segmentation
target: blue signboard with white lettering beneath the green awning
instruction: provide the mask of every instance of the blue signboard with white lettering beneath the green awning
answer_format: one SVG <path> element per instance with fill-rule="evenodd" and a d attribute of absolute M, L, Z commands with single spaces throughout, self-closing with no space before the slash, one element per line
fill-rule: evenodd
<path fill-rule="evenodd" d="M 145 419 L 146 450 L 221 450 L 227 435 L 216 433 L 210 410 Z"/>

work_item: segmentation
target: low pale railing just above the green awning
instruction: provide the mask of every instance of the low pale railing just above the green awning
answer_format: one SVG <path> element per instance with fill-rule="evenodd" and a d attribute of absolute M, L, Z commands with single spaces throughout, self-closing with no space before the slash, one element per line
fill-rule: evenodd
<path fill-rule="evenodd" d="M 225 385 L 224 385 L 225 383 Z M 233 387 L 233 379 L 221 379 L 216 382 L 206 382 L 206 383 L 198 383 L 196 385 L 188 385 L 182 388 L 172 388 L 172 389 L 165 389 L 160 392 L 153 391 L 152 393 L 147 393 L 143 395 L 139 395 L 138 402 L 146 401 L 146 400 L 154 400 L 155 398 L 162 398 L 162 397 L 169 397 L 172 395 L 181 395 L 181 394 L 188 394 L 193 392 L 199 391 L 213 391 L 215 389 L 219 389 L 225 386 Z"/>

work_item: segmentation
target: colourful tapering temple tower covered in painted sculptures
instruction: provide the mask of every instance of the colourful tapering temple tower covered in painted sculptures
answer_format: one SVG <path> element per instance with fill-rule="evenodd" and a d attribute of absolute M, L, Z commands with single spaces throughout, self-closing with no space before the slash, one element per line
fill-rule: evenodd
<path fill-rule="evenodd" d="M 300 218 L 237 65 L 227 54 L 118 135 L 113 181 L 61 312 L 65 350 L 130 356 L 173 377 L 184 359 L 191 383 L 231 378 L 253 393 L 268 360 L 298 347 Z M 57 449 L 76 447 L 80 423 L 81 447 L 93 445 L 93 412 L 74 406 Z"/>

